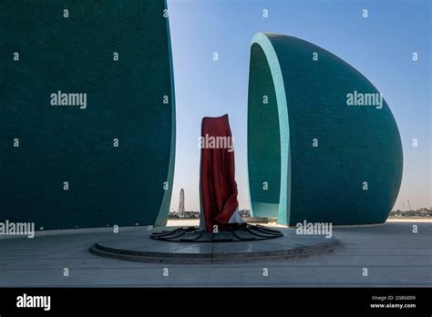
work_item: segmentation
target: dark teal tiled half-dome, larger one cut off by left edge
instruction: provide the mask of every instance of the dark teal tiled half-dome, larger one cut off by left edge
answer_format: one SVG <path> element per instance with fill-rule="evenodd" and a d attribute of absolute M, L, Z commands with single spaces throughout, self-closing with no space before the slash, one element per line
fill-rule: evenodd
<path fill-rule="evenodd" d="M 1 7 L 0 219 L 164 225 L 176 130 L 165 1 Z M 86 107 L 53 106 L 58 91 Z"/>

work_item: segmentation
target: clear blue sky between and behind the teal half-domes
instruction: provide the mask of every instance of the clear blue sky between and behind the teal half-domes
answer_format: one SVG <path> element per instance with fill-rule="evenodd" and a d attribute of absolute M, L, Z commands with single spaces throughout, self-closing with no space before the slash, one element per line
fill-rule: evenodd
<path fill-rule="evenodd" d="M 177 111 L 171 209 L 177 210 L 183 188 L 186 210 L 200 210 L 201 119 L 223 114 L 235 140 L 240 209 L 250 209 L 247 97 L 250 45 L 258 32 L 300 37 L 364 74 L 384 94 L 402 139 L 404 173 L 394 210 L 407 210 L 407 199 L 412 209 L 432 206 L 430 1 L 168 0 L 168 7 Z"/>

